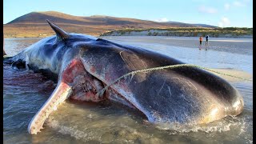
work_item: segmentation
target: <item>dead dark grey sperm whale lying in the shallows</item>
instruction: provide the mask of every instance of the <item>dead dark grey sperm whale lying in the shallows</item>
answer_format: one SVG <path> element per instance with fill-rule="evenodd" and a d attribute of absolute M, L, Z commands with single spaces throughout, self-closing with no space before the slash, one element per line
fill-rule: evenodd
<path fill-rule="evenodd" d="M 183 62 L 102 38 L 69 34 L 47 22 L 56 35 L 43 38 L 6 60 L 15 68 L 39 71 L 58 82 L 30 121 L 30 134 L 37 134 L 49 114 L 66 98 L 90 102 L 110 99 L 141 111 L 154 123 L 201 124 L 242 112 L 244 104 L 238 90 L 196 67 L 142 72 L 110 85 L 130 71 Z M 98 94 L 108 85 L 104 93 Z"/>

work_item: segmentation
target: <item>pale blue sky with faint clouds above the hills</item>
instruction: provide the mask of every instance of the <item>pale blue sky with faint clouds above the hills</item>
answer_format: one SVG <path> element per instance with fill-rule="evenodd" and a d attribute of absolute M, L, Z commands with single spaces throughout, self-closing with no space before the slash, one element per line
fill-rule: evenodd
<path fill-rule="evenodd" d="M 253 0 L 4 0 L 3 24 L 34 11 L 253 27 Z"/>

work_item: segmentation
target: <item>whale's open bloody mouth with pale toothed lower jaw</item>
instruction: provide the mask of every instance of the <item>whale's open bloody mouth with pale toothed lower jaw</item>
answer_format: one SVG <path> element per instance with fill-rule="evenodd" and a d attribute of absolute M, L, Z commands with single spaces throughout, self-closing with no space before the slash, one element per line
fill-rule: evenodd
<path fill-rule="evenodd" d="M 100 97 L 98 92 L 101 91 L 106 84 L 90 74 L 82 64 L 80 59 L 74 59 L 66 69 L 63 70 L 62 75 L 58 80 L 58 85 L 50 98 L 44 103 L 34 118 L 30 121 L 28 132 L 30 134 L 37 134 L 43 129 L 43 124 L 50 113 L 57 110 L 57 107 L 67 98 L 72 98 L 78 101 L 86 102 L 100 102 L 106 99 L 121 102 L 126 106 L 135 108 L 126 98 L 114 89 L 109 88 Z"/>

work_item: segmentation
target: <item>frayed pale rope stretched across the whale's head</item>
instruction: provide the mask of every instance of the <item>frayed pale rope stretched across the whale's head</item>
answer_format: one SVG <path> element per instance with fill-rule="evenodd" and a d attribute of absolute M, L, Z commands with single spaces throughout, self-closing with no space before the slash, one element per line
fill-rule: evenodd
<path fill-rule="evenodd" d="M 226 76 L 229 76 L 229 77 L 239 78 L 239 79 L 242 79 L 242 80 L 245 80 L 245 81 L 250 81 L 250 82 L 252 82 L 252 80 L 250 80 L 250 79 L 246 79 L 246 78 L 234 76 L 234 75 L 231 75 L 231 74 L 224 74 L 224 73 L 221 73 L 221 72 L 218 72 L 218 71 L 215 71 L 215 70 L 210 70 L 210 69 L 208 69 L 208 68 L 206 68 L 206 67 L 202 67 L 202 66 L 197 66 L 197 65 L 193 65 L 193 64 L 177 64 L 177 65 L 159 66 L 159 67 L 153 67 L 153 68 L 150 68 L 150 69 L 143 69 L 143 70 L 134 70 L 134 71 L 131 71 L 130 73 L 127 73 L 127 74 L 122 75 L 121 77 L 119 77 L 119 78 L 115 79 L 113 82 L 111 82 L 109 85 L 105 86 L 102 90 L 100 90 L 100 91 L 96 94 L 96 96 L 102 96 L 102 94 L 105 92 L 105 90 L 107 90 L 111 85 L 113 85 L 115 82 L 118 82 L 118 81 L 119 81 L 120 79 L 122 79 L 122 78 L 126 78 L 128 75 L 134 76 L 134 74 L 137 74 L 137 73 L 149 72 L 149 71 L 152 71 L 152 70 L 174 69 L 174 68 L 184 67 L 184 66 L 188 66 L 188 67 L 197 67 L 197 68 L 199 68 L 199 69 L 208 70 L 208 71 L 214 72 L 214 73 L 216 73 L 216 74 L 222 74 L 222 75 L 226 75 Z"/>

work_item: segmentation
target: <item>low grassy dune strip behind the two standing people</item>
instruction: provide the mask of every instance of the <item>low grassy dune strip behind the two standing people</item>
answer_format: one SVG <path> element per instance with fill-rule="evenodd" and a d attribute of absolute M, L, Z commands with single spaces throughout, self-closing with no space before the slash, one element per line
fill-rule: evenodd
<path fill-rule="evenodd" d="M 166 37 L 205 37 L 210 38 L 253 38 L 253 28 L 170 28 L 170 29 L 124 29 L 113 30 L 100 36 L 166 36 Z"/>

